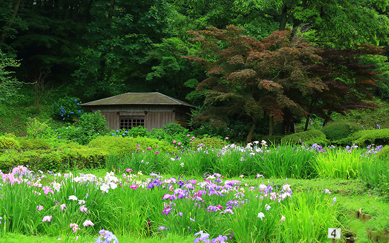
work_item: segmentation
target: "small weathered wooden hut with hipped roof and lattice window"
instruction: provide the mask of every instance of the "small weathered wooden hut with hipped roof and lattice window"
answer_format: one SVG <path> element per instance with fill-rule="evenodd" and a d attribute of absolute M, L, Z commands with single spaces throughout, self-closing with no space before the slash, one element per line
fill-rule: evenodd
<path fill-rule="evenodd" d="M 92 112 L 101 111 L 113 130 L 143 126 L 147 131 L 176 122 L 187 127 L 195 106 L 170 96 L 154 93 L 125 93 L 81 104 Z"/>

